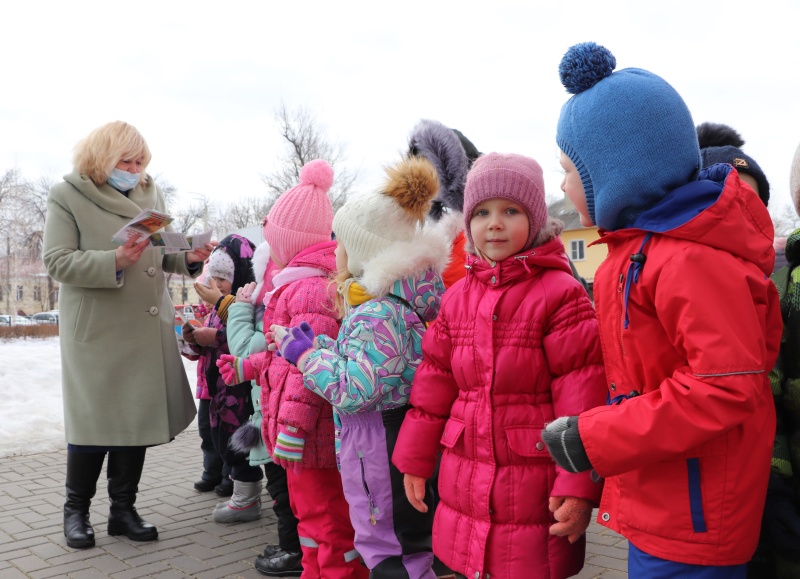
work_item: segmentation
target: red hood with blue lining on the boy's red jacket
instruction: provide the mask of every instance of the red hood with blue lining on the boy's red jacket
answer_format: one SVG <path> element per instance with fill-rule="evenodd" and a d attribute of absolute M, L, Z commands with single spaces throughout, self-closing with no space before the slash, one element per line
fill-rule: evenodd
<path fill-rule="evenodd" d="M 601 231 L 601 243 L 642 231 L 694 241 L 727 251 L 772 273 L 772 220 L 758 195 L 730 165 L 712 165 L 642 212 L 630 228 Z M 646 253 L 646 252 L 645 252 Z"/>

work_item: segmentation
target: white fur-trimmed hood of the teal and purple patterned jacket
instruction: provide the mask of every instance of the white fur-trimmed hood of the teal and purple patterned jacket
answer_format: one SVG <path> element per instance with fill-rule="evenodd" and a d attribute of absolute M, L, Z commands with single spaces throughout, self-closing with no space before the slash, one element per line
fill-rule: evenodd
<path fill-rule="evenodd" d="M 398 281 L 421 278 L 428 271 L 441 275 L 450 259 L 450 244 L 442 231 L 421 229 L 412 241 L 394 243 L 366 262 L 356 281 L 370 295 L 383 297 Z"/>

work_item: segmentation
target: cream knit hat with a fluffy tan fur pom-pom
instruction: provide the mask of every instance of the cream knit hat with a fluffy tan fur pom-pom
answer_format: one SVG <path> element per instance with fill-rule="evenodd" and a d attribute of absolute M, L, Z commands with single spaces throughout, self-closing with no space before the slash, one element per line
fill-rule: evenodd
<path fill-rule="evenodd" d="M 409 157 L 386 168 L 381 190 L 348 199 L 333 218 L 333 231 L 347 252 L 349 272 L 361 277 L 370 259 L 397 242 L 412 241 L 438 190 L 433 165 Z"/>

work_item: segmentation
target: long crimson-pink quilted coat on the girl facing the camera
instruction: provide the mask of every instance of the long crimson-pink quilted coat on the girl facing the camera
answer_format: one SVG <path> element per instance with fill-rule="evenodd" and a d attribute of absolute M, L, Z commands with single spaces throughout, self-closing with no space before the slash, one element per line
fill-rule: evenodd
<path fill-rule="evenodd" d="M 576 574 L 585 543 L 549 534 L 550 496 L 597 501 L 541 441 L 556 416 L 603 404 L 597 321 L 559 239 L 490 268 L 474 256 L 423 338 L 392 461 L 430 477 L 444 446 L 433 550 L 467 577 Z"/>

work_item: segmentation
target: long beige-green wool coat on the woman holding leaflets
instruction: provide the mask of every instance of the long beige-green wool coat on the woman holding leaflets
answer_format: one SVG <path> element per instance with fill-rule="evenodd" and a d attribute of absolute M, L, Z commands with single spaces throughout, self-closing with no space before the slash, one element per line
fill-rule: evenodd
<path fill-rule="evenodd" d="M 44 263 L 61 284 L 64 426 L 71 444 L 162 444 L 196 414 L 164 278 L 164 271 L 189 275 L 186 254 L 148 248 L 117 282 L 111 237 L 142 209 L 165 210 L 149 176 L 128 197 L 76 171 L 50 189 Z"/>

